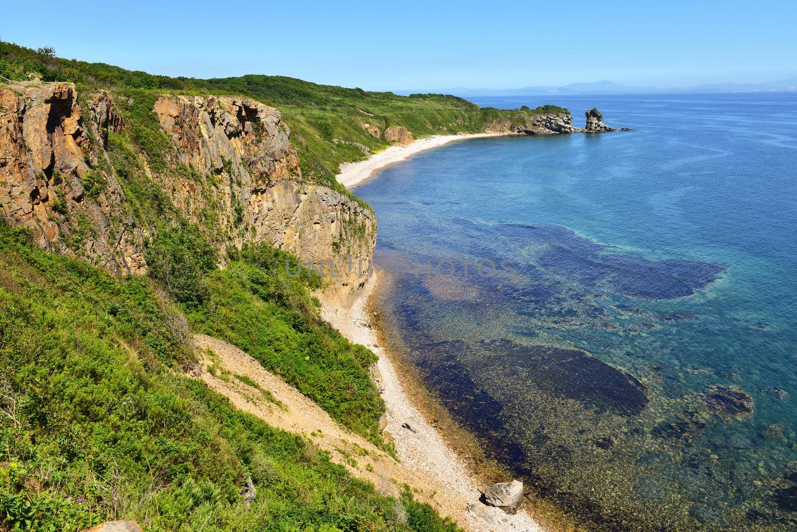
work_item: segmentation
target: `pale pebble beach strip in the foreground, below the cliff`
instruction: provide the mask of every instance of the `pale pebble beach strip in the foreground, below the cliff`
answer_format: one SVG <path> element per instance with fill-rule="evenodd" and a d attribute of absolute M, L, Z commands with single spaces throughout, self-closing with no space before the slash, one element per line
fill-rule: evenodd
<path fill-rule="evenodd" d="M 369 299 L 377 284 L 378 277 L 368 279 L 347 306 L 322 300 L 321 315 L 347 340 L 367 346 L 379 356 L 375 380 L 387 412 L 384 432 L 392 436 L 402 465 L 410 471 L 423 471 L 444 487 L 446 493 L 442 495 L 454 501 L 458 510 L 451 517 L 465 530 L 544 532 L 546 529 L 525 510 L 509 515 L 480 503 L 476 476 L 468 471 L 465 460 L 446 444 L 438 428 L 413 404 L 406 384 L 391 361 L 391 354 L 379 344 L 376 336 Z M 471 512 L 468 507 L 474 503 L 477 507 Z M 481 518 L 477 514 L 481 514 Z"/>

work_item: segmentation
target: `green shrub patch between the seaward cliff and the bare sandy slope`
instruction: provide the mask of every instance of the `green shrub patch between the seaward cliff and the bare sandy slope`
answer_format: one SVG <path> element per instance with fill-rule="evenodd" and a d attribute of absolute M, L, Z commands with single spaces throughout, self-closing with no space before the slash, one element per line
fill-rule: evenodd
<path fill-rule="evenodd" d="M 305 269 L 293 280 L 286 261 L 296 268 L 296 258 L 285 252 L 245 247 L 241 260 L 206 277 L 210 296 L 187 312 L 192 327 L 251 354 L 336 421 L 381 444 L 377 421 L 384 404 L 367 371 L 376 355 L 319 318 L 308 288 L 320 277 L 308 277 Z"/>

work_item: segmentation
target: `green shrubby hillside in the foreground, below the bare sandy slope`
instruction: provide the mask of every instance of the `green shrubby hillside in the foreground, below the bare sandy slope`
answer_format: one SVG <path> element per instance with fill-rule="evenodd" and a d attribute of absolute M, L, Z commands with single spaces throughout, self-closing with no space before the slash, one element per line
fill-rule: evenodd
<path fill-rule="evenodd" d="M 351 349 L 332 331 L 301 332 L 319 327 L 311 307 L 287 310 L 309 304 L 304 287 L 248 260 L 240 269 L 234 297 L 270 290 L 275 331 L 336 342 L 339 356 Z M 0 222 L 0 529 L 83 530 L 124 517 L 146 530 L 453 530 L 409 494 L 376 494 L 308 440 L 183 377 L 194 363 L 189 331 L 153 281 L 41 252 Z M 251 506 L 240 495 L 247 477 Z"/>

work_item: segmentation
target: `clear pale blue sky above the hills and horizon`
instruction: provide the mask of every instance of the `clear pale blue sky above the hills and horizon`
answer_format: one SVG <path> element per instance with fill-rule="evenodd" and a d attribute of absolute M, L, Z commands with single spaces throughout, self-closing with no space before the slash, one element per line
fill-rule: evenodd
<path fill-rule="evenodd" d="M 6 2 L 0 38 L 171 76 L 371 90 L 797 76 L 797 2 Z"/>

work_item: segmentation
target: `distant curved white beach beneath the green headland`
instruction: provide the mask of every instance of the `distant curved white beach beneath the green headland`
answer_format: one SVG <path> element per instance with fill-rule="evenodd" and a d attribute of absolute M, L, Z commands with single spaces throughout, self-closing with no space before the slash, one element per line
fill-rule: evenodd
<path fill-rule="evenodd" d="M 483 139 L 485 137 L 503 137 L 505 133 L 460 133 L 457 135 L 434 135 L 423 139 L 415 140 L 407 146 L 391 146 L 384 151 L 375 153 L 364 161 L 344 162 L 340 165 L 340 174 L 336 175 L 338 182 L 347 189 L 358 186 L 367 178 L 375 173 L 376 170 L 394 162 L 406 160 L 411 155 L 432 148 L 441 147 L 444 144 L 453 143 L 457 140 Z"/>

